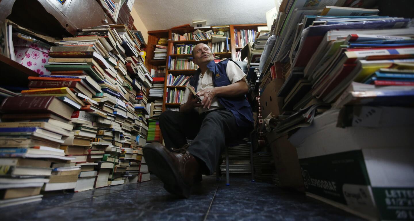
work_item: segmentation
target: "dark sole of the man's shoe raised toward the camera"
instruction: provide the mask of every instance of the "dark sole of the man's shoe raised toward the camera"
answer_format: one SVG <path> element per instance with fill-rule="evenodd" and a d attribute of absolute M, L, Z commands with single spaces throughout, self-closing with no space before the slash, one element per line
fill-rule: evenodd
<path fill-rule="evenodd" d="M 169 157 L 163 151 L 145 147 L 143 153 L 149 170 L 164 183 L 165 190 L 179 197 L 190 197 L 190 187 L 181 180 L 178 171 L 173 169 Z"/>

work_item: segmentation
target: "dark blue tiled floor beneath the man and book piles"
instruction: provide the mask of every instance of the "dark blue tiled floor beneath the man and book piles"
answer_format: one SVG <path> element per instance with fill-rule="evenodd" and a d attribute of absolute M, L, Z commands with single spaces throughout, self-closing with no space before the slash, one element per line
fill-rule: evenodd
<path fill-rule="evenodd" d="M 79 193 L 47 194 L 41 202 L 0 209 L 1 220 L 349 220 L 360 218 L 299 193 L 248 177 L 231 176 L 230 186 L 203 177 L 189 199 L 177 199 L 151 181 Z"/>

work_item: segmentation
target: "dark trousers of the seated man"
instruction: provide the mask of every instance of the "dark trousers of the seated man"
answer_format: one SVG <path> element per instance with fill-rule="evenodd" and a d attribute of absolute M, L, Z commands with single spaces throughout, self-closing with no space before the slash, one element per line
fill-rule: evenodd
<path fill-rule="evenodd" d="M 246 137 L 251 128 L 239 127 L 230 110 L 212 110 L 199 115 L 167 110 L 160 115 L 159 126 L 167 148 L 181 148 L 193 139 L 188 151 L 201 163 L 202 173 L 211 175 L 221 151 L 237 139 Z"/>

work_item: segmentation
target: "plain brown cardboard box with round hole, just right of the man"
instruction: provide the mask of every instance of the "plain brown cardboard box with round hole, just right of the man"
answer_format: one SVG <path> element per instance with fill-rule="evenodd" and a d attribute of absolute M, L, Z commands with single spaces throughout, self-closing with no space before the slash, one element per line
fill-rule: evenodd
<path fill-rule="evenodd" d="M 267 84 L 263 94 L 260 95 L 260 105 L 262 106 L 262 116 L 272 113 L 275 117 L 282 113 L 283 98 L 277 96 L 277 92 L 282 87 L 284 79 L 273 79 Z"/>

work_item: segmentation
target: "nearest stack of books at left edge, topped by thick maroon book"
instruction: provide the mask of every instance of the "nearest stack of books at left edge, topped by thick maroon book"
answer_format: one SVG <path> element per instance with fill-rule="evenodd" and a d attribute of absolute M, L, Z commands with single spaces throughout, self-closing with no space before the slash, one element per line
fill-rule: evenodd
<path fill-rule="evenodd" d="M 0 123 L 0 207 L 39 201 L 42 188 L 48 190 L 64 181 L 74 188 L 77 175 L 60 176 L 62 168 L 75 170 L 67 168 L 75 158 L 60 149 L 65 137 L 73 135 L 70 116 L 74 108 L 64 102 L 70 96 L 8 94 L 0 105 L 4 113 Z"/>

